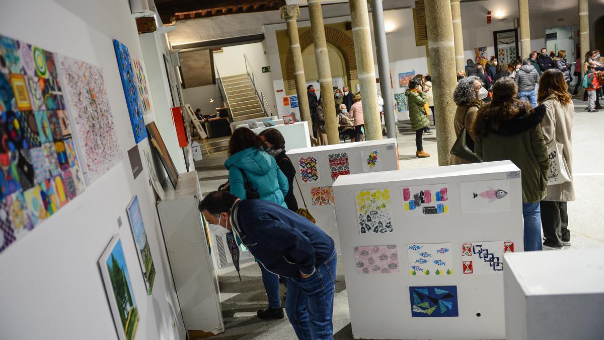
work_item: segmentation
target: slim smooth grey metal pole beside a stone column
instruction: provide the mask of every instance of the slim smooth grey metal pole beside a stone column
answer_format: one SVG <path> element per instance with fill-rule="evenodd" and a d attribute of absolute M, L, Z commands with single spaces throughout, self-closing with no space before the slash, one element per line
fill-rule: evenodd
<path fill-rule="evenodd" d="M 388 138 L 396 138 L 396 119 L 394 117 L 394 99 L 390 87 L 390 60 L 388 60 L 388 47 L 386 45 L 386 30 L 384 28 L 384 7 L 382 0 L 371 1 L 371 14 L 373 15 L 373 32 L 377 47 L 377 68 L 379 70 L 379 85 L 384 99 L 384 122 Z M 363 112 L 365 109 L 363 109 Z"/>

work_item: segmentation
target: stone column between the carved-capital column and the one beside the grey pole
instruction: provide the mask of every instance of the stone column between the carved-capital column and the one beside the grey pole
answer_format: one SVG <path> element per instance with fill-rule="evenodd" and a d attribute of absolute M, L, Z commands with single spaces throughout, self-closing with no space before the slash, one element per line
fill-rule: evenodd
<path fill-rule="evenodd" d="M 336 103 L 333 99 L 332 70 L 329 67 L 321 0 L 309 0 L 307 3 L 312 40 L 315 43 L 316 70 L 319 73 L 327 142 L 329 144 L 339 144 L 338 117 L 336 117 Z"/>

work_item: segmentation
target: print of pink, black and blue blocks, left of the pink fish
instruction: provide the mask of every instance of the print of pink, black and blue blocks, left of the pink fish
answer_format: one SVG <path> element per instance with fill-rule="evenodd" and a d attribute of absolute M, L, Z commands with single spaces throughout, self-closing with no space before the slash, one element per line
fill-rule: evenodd
<path fill-rule="evenodd" d="M 448 188 L 443 185 L 403 188 L 403 208 L 409 216 L 447 214 Z"/>

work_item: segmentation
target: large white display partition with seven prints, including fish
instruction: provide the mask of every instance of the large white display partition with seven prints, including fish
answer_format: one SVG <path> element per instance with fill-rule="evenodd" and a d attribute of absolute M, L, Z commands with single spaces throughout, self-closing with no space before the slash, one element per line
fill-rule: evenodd
<path fill-rule="evenodd" d="M 468 183 L 477 181 L 481 183 L 474 188 L 485 189 L 477 191 L 474 198 L 467 188 L 472 185 Z M 505 188 L 507 195 L 493 201 L 482 197 L 480 194 L 490 186 Z M 410 188 L 408 194 L 404 188 Z M 358 192 L 377 189 L 384 193 L 388 190 L 390 204 L 379 200 L 383 206 L 365 204 L 379 208 L 370 209 L 370 213 L 359 211 L 357 201 L 363 202 L 371 195 L 358 198 Z M 501 270 L 504 242 L 513 242 L 515 251 L 523 248 L 520 171 L 512 162 L 342 176 L 335 181 L 333 190 L 338 202 L 341 258 L 355 338 L 505 338 Z M 420 203 L 417 208 L 421 209 L 410 209 L 414 194 Z M 405 200 L 405 196 L 411 198 Z M 491 204 L 484 208 L 488 213 L 476 211 L 484 204 Z M 381 218 L 384 209 L 390 211 L 391 218 Z M 372 217 L 371 223 L 391 221 L 393 231 L 361 234 L 359 220 L 367 220 L 367 215 Z M 463 256 L 462 249 L 467 244 L 472 246 L 469 255 Z M 365 258 L 361 249 L 368 249 Z M 375 255 L 373 249 L 378 250 Z M 387 256 L 382 258 L 384 253 Z M 373 256 L 373 260 L 368 260 Z M 489 266 L 489 259 L 493 260 L 493 267 Z M 473 262 L 472 273 L 464 273 L 464 261 Z M 429 275 L 425 275 L 426 270 Z M 436 275 L 436 270 L 440 275 Z M 415 289 L 410 292 L 410 287 L 425 287 L 428 296 L 437 299 L 423 298 Z M 440 289 L 452 297 L 446 298 L 448 293 Z M 414 293 L 418 301 L 413 298 Z"/>

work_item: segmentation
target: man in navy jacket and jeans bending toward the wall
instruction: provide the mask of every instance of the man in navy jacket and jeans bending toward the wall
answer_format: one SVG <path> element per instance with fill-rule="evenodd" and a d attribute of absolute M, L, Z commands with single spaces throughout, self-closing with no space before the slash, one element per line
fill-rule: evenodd
<path fill-rule="evenodd" d="M 304 217 L 266 200 L 213 191 L 199 203 L 216 235 L 232 230 L 266 270 L 286 278 L 285 311 L 298 339 L 333 339 L 337 257 L 333 239 Z"/>

